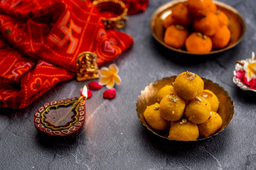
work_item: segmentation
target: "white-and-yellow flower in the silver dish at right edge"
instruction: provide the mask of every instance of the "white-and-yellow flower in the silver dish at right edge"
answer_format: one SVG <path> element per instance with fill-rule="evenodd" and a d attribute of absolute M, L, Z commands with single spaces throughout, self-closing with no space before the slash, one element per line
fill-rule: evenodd
<path fill-rule="evenodd" d="M 245 62 L 243 64 L 243 69 L 245 70 L 245 77 L 247 81 L 250 81 L 251 79 L 256 79 L 255 52 L 252 52 L 252 61 Z"/>

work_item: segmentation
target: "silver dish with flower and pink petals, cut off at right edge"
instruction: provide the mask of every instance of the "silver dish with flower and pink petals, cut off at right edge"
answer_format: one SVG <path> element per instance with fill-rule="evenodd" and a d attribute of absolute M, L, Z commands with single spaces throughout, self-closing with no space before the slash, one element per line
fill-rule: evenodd
<path fill-rule="evenodd" d="M 256 92 L 256 60 L 255 53 L 252 58 L 237 61 L 233 72 L 233 82 L 243 91 Z"/>

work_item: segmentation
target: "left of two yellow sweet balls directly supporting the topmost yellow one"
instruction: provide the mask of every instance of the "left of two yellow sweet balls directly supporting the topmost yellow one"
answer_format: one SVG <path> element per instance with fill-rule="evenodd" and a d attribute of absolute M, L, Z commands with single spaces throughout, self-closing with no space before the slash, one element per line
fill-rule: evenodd
<path fill-rule="evenodd" d="M 184 113 L 186 102 L 177 95 L 167 95 L 160 102 L 160 115 L 165 120 L 177 121 Z"/>

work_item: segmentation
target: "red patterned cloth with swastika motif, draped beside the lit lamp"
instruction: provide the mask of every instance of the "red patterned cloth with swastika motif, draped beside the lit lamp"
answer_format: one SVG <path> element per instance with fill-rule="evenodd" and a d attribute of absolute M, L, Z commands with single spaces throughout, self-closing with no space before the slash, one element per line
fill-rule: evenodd
<path fill-rule="evenodd" d="M 1 107 L 25 108 L 73 79 L 80 52 L 95 52 L 100 65 L 133 43 L 127 34 L 105 30 L 90 1 L 3 0 L 0 13 Z"/>

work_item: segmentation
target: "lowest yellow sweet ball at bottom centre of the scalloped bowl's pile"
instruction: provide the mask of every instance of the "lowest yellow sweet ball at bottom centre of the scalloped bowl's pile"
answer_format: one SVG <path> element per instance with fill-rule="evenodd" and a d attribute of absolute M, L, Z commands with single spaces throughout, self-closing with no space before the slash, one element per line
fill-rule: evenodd
<path fill-rule="evenodd" d="M 171 140 L 193 141 L 199 137 L 198 126 L 183 118 L 171 123 L 169 138 Z"/>

